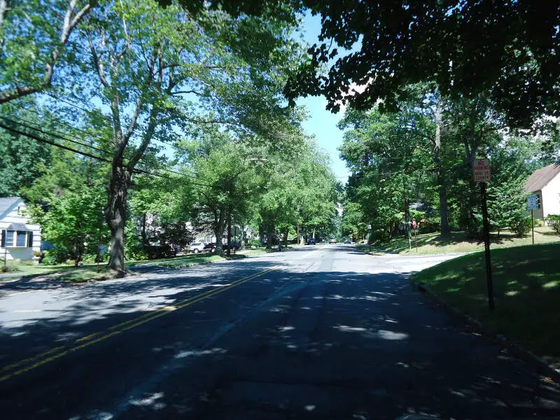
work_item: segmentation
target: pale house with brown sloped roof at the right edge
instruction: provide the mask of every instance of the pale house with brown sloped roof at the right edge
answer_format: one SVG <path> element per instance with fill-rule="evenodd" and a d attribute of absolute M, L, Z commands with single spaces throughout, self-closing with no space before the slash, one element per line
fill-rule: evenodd
<path fill-rule="evenodd" d="M 560 162 L 533 172 L 525 183 L 525 190 L 539 197 L 540 208 L 533 211 L 535 218 L 544 220 L 549 214 L 560 214 Z"/>

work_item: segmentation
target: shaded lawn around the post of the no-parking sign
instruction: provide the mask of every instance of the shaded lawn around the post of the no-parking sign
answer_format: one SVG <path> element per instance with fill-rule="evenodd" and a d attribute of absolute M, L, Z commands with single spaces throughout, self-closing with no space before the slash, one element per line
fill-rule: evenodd
<path fill-rule="evenodd" d="M 489 313 L 484 252 L 442 262 L 416 282 L 460 311 L 549 360 L 560 361 L 560 244 L 494 249 L 496 309 Z"/>

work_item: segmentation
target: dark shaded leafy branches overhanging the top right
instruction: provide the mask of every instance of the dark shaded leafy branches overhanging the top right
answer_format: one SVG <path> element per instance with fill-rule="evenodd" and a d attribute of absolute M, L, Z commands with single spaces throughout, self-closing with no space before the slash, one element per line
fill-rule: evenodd
<path fill-rule="evenodd" d="M 434 80 L 453 99 L 489 92 L 510 125 L 560 115 L 554 1 L 304 3 L 321 15 L 320 44 L 286 85 L 290 98 L 324 94 L 333 111 L 347 102 L 370 109 L 381 99 L 395 110 L 402 87 Z M 328 71 L 318 71 L 323 66 Z"/>

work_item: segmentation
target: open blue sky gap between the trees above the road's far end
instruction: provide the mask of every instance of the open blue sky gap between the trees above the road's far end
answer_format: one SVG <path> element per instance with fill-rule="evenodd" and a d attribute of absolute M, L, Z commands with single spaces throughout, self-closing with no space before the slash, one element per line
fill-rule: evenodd
<path fill-rule="evenodd" d="M 321 32 L 321 18 L 311 16 L 307 13 L 304 17 L 304 39 L 309 44 L 318 43 L 318 35 Z M 315 134 L 317 143 L 330 155 L 332 160 L 332 172 L 342 183 L 346 183 L 349 171 L 346 163 L 340 159 L 337 147 L 342 144 L 342 131 L 338 129 L 337 123 L 342 119 L 342 112 L 333 114 L 325 110 L 326 99 L 320 97 L 306 97 L 297 99 L 298 105 L 305 105 L 309 111 L 309 120 L 304 124 L 307 134 Z"/>

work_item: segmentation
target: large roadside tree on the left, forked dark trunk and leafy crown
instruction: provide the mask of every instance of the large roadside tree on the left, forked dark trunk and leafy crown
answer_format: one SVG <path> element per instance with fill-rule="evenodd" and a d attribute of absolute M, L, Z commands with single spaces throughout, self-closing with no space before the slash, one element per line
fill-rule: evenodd
<path fill-rule="evenodd" d="M 238 127 L 251 121 L 255 105 L 271 109 L 278 99 L 265 92 L 274 92 L 269 86 L 278 80 L 267 75 L 279 69 L 275 62 L 288 65 L 284 53 L 276 55 L 290 50 L 288 29 L 274 16 L 232 17 L 211 8 L 192 15 L 179 6 L 160 8 L 153 0 L 123 0 L 89 15 L 84 25 L 89 50 L 81 62 L 89 63 L 86 77 L 94 74 L 102 89 L 83 80 L 111 109 L 113 127 L 106 207 L 111 269 L 125 272 L 128 189 L 151 141 L 185 121 L 210 122 L 197 116 L 193 97 L 214 111 L 214 122 Z"/>

